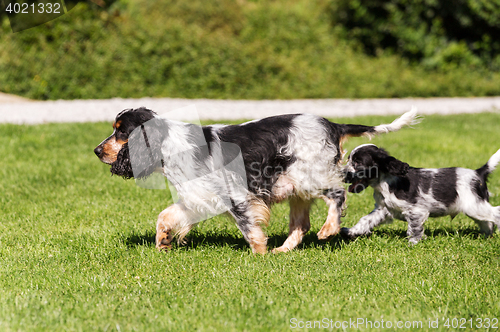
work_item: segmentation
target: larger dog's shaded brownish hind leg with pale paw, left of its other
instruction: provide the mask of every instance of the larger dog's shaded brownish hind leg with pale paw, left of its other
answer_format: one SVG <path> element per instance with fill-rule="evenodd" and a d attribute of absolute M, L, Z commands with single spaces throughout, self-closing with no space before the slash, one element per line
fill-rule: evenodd
<path fill-rule="evenodd" d="M 290 251 L 302 242 L 302 238 L 311 228 L 309 221 L 310 207 L 311 201 L 300 198 L 290 200 L 290 231 L 288 232 L 288 238 L 281 247 L 275 248 L 273 253 Z"/>

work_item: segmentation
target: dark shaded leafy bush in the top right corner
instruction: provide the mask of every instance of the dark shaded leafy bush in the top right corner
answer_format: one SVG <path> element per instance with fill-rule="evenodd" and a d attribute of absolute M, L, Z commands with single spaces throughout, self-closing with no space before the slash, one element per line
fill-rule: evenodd
<path fill-rule="evenodd" d="M 330 14 L 372 55 L 389 50 L 445 70 L 500 69 L 500 0 L 332 0 Z"/>

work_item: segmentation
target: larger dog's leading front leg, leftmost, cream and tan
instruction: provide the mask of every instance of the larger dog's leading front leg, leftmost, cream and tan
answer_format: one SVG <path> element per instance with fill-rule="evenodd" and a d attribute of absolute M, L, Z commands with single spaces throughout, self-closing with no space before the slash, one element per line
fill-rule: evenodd
<path fill-rule="evenodd" d="M 158 250 L 170 249 L 174 237 L 173 232 L 179 228 L 179 236 L 182 239 L 192 227 L 186 221 L 188 221 L 188 216 L 181 204 L 173 204 L 163 210 L 156 223 L 156 248 Z M 185 224 L 184 227 L 183 224 Z"/>

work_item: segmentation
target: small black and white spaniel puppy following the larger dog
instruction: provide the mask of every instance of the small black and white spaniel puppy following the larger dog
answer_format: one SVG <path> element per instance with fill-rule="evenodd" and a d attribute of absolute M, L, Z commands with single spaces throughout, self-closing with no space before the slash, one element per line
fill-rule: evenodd
<path fill-rule="evenodd" d="M 354 238 L 370 234 L 374 227 L 393 218 L 408 222 L 408 238 L 416 244 L 424 233 L 428 217 L 463 212 L 489 236 L 500 228 L 500 207 L 489 203 L 488 175 L 500 162 L 500 150 L 481 168 L 413 168 L 373 144 L 355 148 L 346 166 L 349 192 L 373 187 L 375 209 L 341 234 Z"/>

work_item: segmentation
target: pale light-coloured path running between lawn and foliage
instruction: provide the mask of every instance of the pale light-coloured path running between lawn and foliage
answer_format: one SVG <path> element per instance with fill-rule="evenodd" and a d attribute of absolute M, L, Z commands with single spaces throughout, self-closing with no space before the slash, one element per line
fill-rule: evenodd
<path fill-rule="evenodd" d="M 305 99 L 305 100 L 208 100 L 208 99 L 103 99 L 30 101 L 0 94 L 0 123 L 112 121 L 125 108 L 145 106 L 162 114 L 184 106 L 196 106 L 200 119 L 258 119 L 285 113 L 312 113 L 325 117 L 401 114 L 412 105 L 420 114 L 454 114 L 500 111 L 500 97 L 406 99 Z M 183 116 L 180 120 L 193 120 Z"/>

